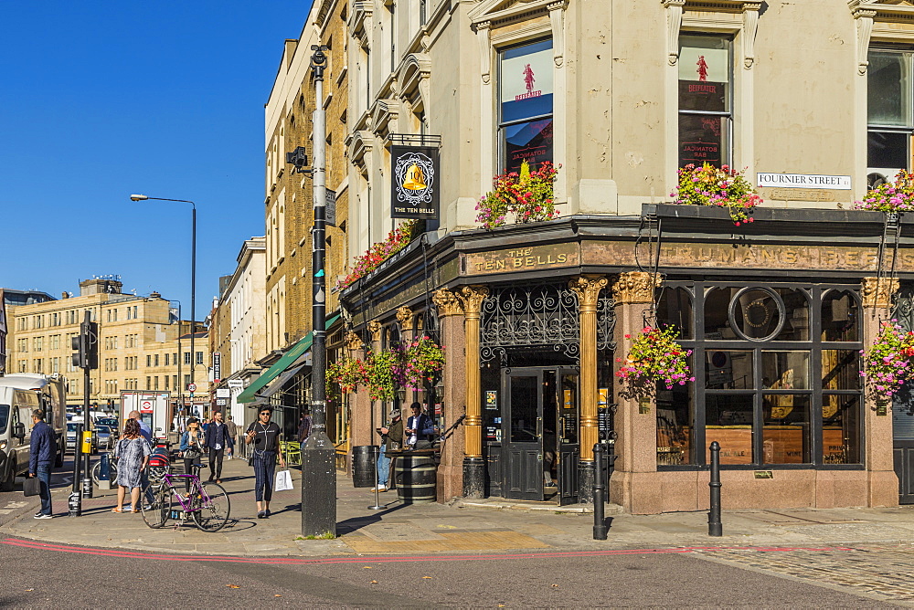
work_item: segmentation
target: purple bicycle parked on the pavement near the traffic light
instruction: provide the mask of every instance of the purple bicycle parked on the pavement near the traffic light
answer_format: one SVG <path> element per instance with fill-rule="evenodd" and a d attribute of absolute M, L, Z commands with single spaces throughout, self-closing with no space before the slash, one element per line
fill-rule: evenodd
<path fill-rule="evenodd" d="M 143 521 L 151 528 L 158 529 L 165 526 L 170 519 L 181 519 L 178 515 L 190 515 L 197 529 L 200 531 L 219 531 L 228 523 L 228 513 L 231 503 L 228 493 L 218 483 L 200 481 L 199 464 L 194 464 L 191 474 L 175 475 L 166 472 L 161 482 L 150 482 L 143 489 L 143 499 L 151 498 L 148 503 L 143 502 Z M 177 479 L 190 482 L 190 492 L 175 489 Z M 173 501 L 173 497 L 177 502 Z M 172 510 L 175 504 L 181 510 Z M 176 506 L 175 506 L 176 509 Z"/>

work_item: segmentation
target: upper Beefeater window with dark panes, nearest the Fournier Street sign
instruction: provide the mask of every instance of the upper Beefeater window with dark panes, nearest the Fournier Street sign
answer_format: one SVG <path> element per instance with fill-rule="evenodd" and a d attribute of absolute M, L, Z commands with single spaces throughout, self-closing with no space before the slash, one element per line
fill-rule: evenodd
<path fill-rule="evenodd" d="M 679 37 L 679 166 L 730 163 L 733 68 L 728 38 Z"/>

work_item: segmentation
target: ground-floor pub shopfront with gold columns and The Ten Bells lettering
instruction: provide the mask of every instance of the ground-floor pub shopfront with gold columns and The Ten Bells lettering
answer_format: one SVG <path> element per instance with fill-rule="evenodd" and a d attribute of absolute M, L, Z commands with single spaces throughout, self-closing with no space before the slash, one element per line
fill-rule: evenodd
<path fill-rule="evenodd" d="M 728 507 L 897 504 L 891 418 L 860 376 L 914 270 L 904 243 L 880 255 L 882 215 L 758 211 L 734 235 L 726 216 L 656 211 L 673 217 L 651 241 L 637 217 L 453 234 L 344 295 L 358 297 L 356 332 L 431 295 L 447 346 L 441 422 L 457 426 L 439 500 L 590 501 L 601 442 L 616 458 L 611 501 L 702 510 L 717 441 Z M 654 323 L 680 329 L 696 381 L 645 401 L 615 372 Z"/>

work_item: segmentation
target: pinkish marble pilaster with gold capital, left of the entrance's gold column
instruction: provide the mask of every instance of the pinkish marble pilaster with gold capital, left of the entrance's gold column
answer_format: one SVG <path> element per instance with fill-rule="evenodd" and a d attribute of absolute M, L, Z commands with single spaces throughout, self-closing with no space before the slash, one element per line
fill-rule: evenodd
<path fill-rule="evenodd" d="M 466 369 L 463 362 L 463 306 L 454 293 L 441 289 L 432 295 L 438 308 L 441 327 L 441 345 L 444 347 L 444 382 L 441 413 L 445 429 L 454 425 L 466 415 Z M 448 502 L 463 495 L 463 449 L 465 448 L 463 425 L 456 426 L 441 443 L 441 466 L 438 468 L 438 501 Z"/>

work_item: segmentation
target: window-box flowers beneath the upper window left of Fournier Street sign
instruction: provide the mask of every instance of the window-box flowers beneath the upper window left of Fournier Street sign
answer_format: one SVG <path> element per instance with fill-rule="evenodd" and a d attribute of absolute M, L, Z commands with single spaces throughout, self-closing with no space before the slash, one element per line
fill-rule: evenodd
<path fill-rule="evenodd" d="M 728 165 L 715 167 L 705 163 L 696 167 L 689 163 L 678 174 L 679 184 L 675 193 L 670 194 L 675 204 L 726 207 L 734 225 L 753 222 L 749 215 L 762 199 L 742 172 L 731 170 Z"/>

